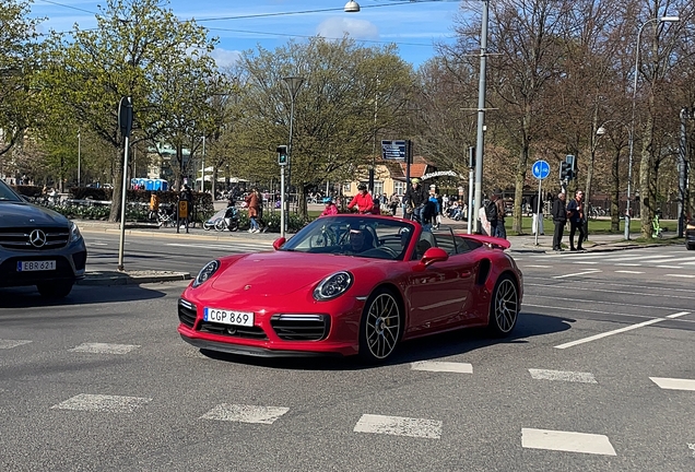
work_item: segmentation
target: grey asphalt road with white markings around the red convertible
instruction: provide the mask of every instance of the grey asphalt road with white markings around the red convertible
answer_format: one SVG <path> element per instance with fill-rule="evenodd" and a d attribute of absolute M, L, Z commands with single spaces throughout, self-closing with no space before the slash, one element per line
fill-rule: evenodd
<path fill-rule="evenodd" d="M 89 267 L 113 243 L 87 234 Z M 172 243 L 131 238 L 127 268 L 222 252 Z M 207 357 L 176 333 L 182 282 L 0 291 L 0 470 L 695 470 L 695 253 L 516 257 L 510 339 L 448 333 L 370 368 Z"/>

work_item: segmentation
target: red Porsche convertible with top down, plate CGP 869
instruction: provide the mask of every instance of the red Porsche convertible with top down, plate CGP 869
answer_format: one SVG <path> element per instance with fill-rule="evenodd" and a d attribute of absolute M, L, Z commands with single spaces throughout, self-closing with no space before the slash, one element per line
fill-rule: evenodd
<path fill-rule="evenodd" d="M 178 332 L 254 356 L 389 357 L 400 341 L 487 326 L 514 329 L 522 276 L 505 239 L 408 220 L 315 220 L 274 251 L 209 262 L 178 300 Z"/>

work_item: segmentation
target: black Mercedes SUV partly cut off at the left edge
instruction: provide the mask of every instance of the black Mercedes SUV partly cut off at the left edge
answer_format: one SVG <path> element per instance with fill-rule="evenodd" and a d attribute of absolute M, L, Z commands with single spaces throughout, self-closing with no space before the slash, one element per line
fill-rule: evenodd
<path fill-rule="evenodd" d="M 84 276 L 86 247 L 78 226 L 26 202 L 0 180 L 0 287 L 36 285 L 61 298 Z"/>

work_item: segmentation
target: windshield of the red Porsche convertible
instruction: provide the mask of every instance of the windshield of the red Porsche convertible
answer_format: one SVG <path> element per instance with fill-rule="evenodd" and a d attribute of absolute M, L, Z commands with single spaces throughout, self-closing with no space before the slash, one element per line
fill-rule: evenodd
<path fill-rule="evenodd" d="M 414 226 L 374 216 L 323 216 L 302 228 L 282 250 L 403 260 Z"/>

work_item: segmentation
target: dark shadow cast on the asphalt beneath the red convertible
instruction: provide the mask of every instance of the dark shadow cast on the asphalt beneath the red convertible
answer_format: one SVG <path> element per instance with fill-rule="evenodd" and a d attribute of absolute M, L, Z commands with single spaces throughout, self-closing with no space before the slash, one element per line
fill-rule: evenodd
<path fill-rule="evenodd" d="M 511 335 L 504 339 L 490 338 L 483 328 L 460 329 L 443 334 L 435 334 L 402 343 L 397 347 L 391 358 L 384 365 L 410 364 L 417 361 L 432 361 L 475 351 L 495 344 L 526 343 L 529 338 L 566 331 L 576 320 L 572 318 L 553 317 L 522 312 Z M 352 357 L 299 357 L 299 358 L 264 358 L 248 357 L 201 350 L 201 353 L 217 361 L 238 364 L 262 366 L 280 369 L 302 370 L 358 370 L 378 366 L 361 363 L 356 356 Z"/>

